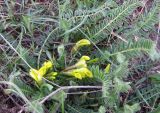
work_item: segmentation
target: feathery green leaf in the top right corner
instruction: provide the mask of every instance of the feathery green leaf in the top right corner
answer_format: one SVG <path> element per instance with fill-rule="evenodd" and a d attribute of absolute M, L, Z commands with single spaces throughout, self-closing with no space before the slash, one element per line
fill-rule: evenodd
<path fill-rule="evenodd" d="M 132 29 L 126 33 L 126 37 L 137 35 L 139 37 L 145 37 L 144 31 L 154 31 L 154 25 L 158 22 L 158 12 L 160 11 L 159 2 L 156 1 L 149 12 L 145 12 L 141 15 L 137 22 L 133 25 Z"/>

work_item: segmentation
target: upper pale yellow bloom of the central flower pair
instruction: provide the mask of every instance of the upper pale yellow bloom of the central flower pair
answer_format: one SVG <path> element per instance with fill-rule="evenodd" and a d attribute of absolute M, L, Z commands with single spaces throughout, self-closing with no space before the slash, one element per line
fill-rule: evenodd
<path fill-rule="evenodd" d="M 90 60 L 89 56 L 82 56 L 80 60 L 75 64 L 76 68 L 87 67 L 86 61 Z"/>

